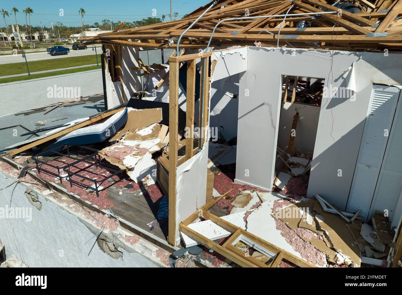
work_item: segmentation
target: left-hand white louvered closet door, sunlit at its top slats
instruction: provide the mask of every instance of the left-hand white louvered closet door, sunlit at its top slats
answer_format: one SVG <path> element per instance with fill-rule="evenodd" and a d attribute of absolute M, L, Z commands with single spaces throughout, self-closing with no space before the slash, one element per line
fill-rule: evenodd
<path fill-rule="evenodd" d="M 370 110 L 364 125 L 346 208 L 347 212 L 361 210 L 360 216 L 363 220 L 366 220 L 369 215 L 389 138 L 384 136 L 384 129 L 391 130 L 398 96 L 397 87 L 373 85 Z"/>

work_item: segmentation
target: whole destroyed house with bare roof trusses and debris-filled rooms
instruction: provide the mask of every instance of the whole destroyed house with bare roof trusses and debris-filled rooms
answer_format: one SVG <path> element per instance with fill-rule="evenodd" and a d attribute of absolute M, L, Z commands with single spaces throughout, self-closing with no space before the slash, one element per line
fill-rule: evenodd
<path fill-rule="evenodd" d="M 1 159 L 45 186 L 19 189 L 34 206 L 92 210 L 113 265 L 398 266 L 401 17 L 402 0 L 219 0 L 122 24 L 82 39 L 103 45 L 105 112 Z"/>

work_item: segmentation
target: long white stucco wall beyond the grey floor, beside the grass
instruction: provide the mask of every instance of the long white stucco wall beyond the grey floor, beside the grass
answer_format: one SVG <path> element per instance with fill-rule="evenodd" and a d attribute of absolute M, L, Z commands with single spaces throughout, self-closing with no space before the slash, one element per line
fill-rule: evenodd
<path fill-rule="evenodd" d="M 53 77 L 44 77 L 28 81 L 0 84 L 0 116 L 47 106 L 68 100 L 66 98 L 48 98 L 48 87 L 80 87 L 80 96 L 90 96 L 103 92 L 102 70 L 96 69 Z"/>

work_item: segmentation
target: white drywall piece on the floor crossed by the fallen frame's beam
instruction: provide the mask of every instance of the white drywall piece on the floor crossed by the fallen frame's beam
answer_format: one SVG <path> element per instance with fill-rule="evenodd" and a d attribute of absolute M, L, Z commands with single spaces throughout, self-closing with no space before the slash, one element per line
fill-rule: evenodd
<path fill-rule="evenodd" d="M 230 234 L 231 234 L 231 232 L 224 229 L 222 226 L 219 226 L 216 223 L 213 223 L 211 220 L 205 220 L 205 221 L 189 224 L 189 228 L 191 228 L 192 230 L 195 230 L 199 234 L 201 234 L 213 241 L 219 240 L 222 238 L 226 238 L 227 236 L 230 236 Z M 183 232 L 180 232 L 180 236 L 181 236 L 186 248 L 201 244 L 200 242 L 197 242 L 193 238 L 190 238 Z"/>

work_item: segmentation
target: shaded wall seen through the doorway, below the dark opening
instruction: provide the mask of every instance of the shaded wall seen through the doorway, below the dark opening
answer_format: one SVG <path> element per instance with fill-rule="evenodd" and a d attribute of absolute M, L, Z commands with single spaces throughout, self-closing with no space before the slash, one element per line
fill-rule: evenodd
<path fill-rule="evenodd" d="M 299 113 L 299 120 L 296 126 L 294 151 L 297 151 L 297 147 L 300 146 L 304 153 L 312 152 L 316 143 L 320 107 L 307 104 L 291 104 L 290 102 L 283 104 L 279 118 L 278 146 L 284 149 L 289 144 L 293 116 L 297 112 Z"/>

